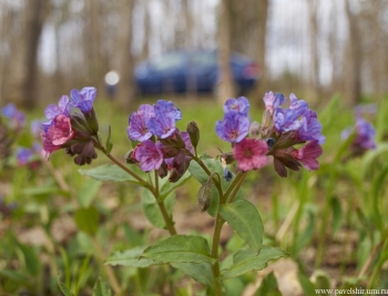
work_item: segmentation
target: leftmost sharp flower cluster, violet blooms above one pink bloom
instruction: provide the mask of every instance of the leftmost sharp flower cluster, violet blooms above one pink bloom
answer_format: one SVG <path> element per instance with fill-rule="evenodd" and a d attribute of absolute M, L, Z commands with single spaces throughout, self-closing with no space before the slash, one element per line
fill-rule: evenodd
<path fill-rule="evenodd" d="M 99 124 L 93 110 L 96 90 L 84 88 L 81 91 L 72 90 L 71 99 L 63 95 L 58 105 L 50 104 L 44 115 L 49 120 L 43 123 L 41 139 L 43 142 L 42 155 L 49 155 L 60 149 L 74 156 L 74 163 L 83 165 L 96 159 L 94 145 L 98 142 Z M 71 113 L 71 108 L 81 113 Z"/>

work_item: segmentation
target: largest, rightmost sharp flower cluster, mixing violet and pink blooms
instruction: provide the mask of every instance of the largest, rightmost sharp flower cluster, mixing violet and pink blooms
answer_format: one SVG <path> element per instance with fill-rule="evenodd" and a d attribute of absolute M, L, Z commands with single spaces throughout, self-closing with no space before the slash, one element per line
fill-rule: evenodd
<path fill-rule="evenodd" d="M 248 119 L 249 103 L 246 98 L 229 99 L 224 105 L 224 119 L 216 123 L 217 135 L 232 143 L 233 155 L 241 171 L 263 167 L 267 155 L 274 157 L 275 171 L 283 177 L 287 170 L 317 170 L 317 157 L 325 136 L 317 114 L 304 100 L 289 95 L 289 108 L 283 94 L 268 92 L 264 96 L 265 112 L 262 125 Z M 251 137 L 249 137 L 251 135 Z M 306 144 L 299 149 L 294 145 Z"/>

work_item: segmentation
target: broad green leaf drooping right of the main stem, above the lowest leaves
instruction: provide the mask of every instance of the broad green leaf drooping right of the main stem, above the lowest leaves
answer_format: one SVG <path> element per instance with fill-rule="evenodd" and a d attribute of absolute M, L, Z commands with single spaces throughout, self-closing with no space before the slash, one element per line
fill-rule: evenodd
<path fill-rule="evenodd" d="M 218 212 L 236 234 L 258 254 L 263 244 L 264 226 L 257 208 L 246 200 L 238 200 L 221 205 Z"/>

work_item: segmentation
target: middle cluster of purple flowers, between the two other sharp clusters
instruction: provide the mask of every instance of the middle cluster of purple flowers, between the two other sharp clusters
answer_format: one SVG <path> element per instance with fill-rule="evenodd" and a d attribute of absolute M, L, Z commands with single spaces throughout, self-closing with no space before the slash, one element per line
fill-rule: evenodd
<path fill-rule="evenodd" d="M 126 129 L 129 137 L 140 143 L 127 161 L 139 163 L 144 172 L 157 170 L 161 177 L 171 171 L 170 181 L 177 181 L 188 167 L 193 144 L 196 145 L 192 137 L 197 131 L 193 122 L 187 132 L 180 132 L 175 122 L 181 119 L 182 112 L 173 102 L 159 100 L 154 105 L 140 105 L 137 112 L 130 115 Z"/>

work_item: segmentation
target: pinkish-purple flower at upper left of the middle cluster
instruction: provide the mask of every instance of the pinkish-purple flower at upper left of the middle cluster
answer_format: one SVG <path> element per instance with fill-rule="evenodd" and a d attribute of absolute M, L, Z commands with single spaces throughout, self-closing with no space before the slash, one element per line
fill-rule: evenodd
<path fill-rule="evenodd" d="M 129 137 L 141 142 L 149 140 L 152 136 L 152 133 L 146 126 L 149 120 L 153 116 L 155 116 L 155 113 L 152 105 L 140 105 L 137 112 L 133 112 L 130 115 L 130 125 L 126 129 Z"/>

